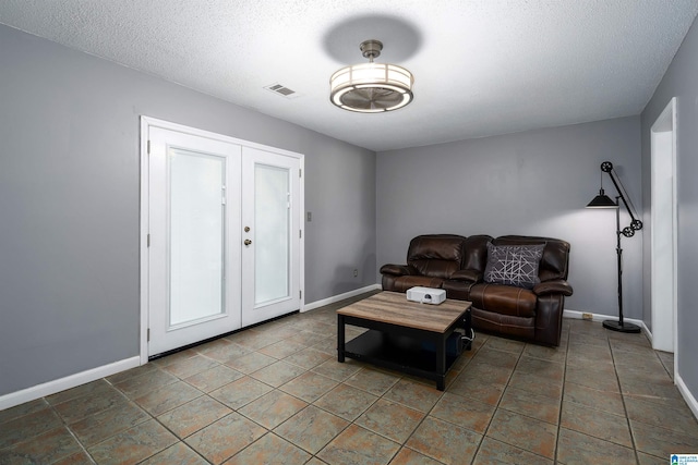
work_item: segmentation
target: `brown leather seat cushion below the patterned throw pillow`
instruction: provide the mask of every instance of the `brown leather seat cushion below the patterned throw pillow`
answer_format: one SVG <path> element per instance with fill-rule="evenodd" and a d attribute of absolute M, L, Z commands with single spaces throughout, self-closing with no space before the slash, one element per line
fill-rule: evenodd
<path fill-rule="evenodd" d="M 476 284 L 470 289 L 472 306 L 514 317 L 535 316 L 537 296 L 532 291 L 502 284 Z"/>

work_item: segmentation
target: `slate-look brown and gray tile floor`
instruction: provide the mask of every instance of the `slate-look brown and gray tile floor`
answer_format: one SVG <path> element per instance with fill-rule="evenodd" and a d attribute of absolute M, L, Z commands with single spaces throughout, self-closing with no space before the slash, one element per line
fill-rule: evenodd
<path fill-rule="evenodd" d="M 1 411 L 0 464 L 648 465 L 698 453 L 672 356 L 643 334 L 565 320 L 549 348 L 480 333 L 440 392 L 338 364 L 347 303 Z"/>

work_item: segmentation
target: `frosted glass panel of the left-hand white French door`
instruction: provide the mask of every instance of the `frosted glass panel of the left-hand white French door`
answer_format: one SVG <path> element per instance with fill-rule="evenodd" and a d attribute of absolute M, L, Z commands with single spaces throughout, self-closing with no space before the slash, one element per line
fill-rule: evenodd
<path fill-rule="evenodd" d="M 169 325 L 225 313 L 225 158 L 170 148 Z"/>

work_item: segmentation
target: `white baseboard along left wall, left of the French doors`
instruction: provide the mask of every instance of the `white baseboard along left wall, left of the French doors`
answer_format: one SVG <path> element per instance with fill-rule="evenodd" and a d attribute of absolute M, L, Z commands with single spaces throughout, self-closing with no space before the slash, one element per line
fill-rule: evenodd
<path fill-rule="evenodd" d="M 0 411 L 14 407 L 15 405 L 20 405 L 25 402 L 34 401 L 46 395 L 56 394 L 57 392 L 65 391 L 67 389 L 75 388 L 107 376 L 116 375 L 120 371 L 135 368 L 140 365 L 140 356 L 125 358 L 123 360 L 115 362 L 113 364 L 104 365 L 75 375 L 67 376 L 65 378 L 37 384 L 21 391 L 11 392 L 0 396 Z"/>

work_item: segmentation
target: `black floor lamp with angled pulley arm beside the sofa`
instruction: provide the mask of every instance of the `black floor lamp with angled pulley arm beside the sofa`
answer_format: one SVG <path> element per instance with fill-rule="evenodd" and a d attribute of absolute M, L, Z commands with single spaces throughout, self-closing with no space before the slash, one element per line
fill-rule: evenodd
<path fill-rule="evenodd" d="M 603 192 L 603 173 L 609 174 L 609 178 L 611 178 L 611 181 L 618 193 L 615 197 L 615 201 Z M 630 215 L 630 225 L 623 228 L 623 230 L 621 229 L 621 200 L 623 201 L 625 209 Z M 621 248 L 621 235 L 633 237 L 635 235 L 635 231 L 642 229 L 642 221 L 637 219 L 637 211 L 635 211 L 635 207 L 633 207 L 633 203 L 629 203 L 627 192 L 621 183 L 621 179 L 617 173 L 613 170 L 613 163 L 604 161 L 601 163 L 601 189 L 599 191 L 599 195 L 595 196 L 589 205 L 587 205 L 587 208 L 615 208 L 615 252 L 618 262 L 618 320 L 605 320 L 603 322 L 603 327 L 621 332 L 640 332 L 639 326 L 623 321 L 623 249 Z"/>

